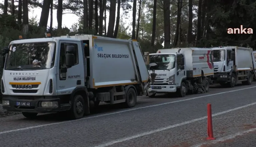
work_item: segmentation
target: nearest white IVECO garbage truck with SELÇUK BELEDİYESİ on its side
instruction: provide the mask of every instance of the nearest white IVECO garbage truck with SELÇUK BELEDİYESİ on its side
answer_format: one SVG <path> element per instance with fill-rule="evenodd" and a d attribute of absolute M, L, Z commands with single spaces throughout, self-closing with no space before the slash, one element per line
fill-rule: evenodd
<path fill-rule="evenodd" d="M 75 35 L 11 41 L 2 52 L 3 109 L 25 117 L 67 112 L 73 119 L 100 102 L 134 107 L 150 76 L 136 40 Z"/>

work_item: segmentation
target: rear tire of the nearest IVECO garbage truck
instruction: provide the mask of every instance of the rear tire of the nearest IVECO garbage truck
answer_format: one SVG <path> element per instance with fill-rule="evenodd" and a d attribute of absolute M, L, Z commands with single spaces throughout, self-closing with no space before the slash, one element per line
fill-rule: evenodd
<path fill-rule="evenodd" d="M 125 107 L 132 108 L 137 103 L 137 94 L 133 88 L 129 88 L 125 94 Z"/>

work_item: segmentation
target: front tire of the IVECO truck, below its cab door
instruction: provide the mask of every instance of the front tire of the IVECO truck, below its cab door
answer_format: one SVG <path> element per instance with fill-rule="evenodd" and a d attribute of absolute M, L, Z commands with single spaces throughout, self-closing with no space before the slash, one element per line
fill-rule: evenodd
<path fill-rule="evenodd" d="M 85 103 L 81 95 L 76 95 L 72 102 L 69 116 L 71 119 L 80 119 L 84 116 Z"/>

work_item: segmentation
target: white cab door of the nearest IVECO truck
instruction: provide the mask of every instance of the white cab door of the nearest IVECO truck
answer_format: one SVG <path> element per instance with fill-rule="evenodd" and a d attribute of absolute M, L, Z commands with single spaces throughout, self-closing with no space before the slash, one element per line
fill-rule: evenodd
<path fill-rule="evenodd" d="M 67 68 L 66 67 L 66 47 L 72 45 L 75 47 L 75 64 Z M 84 86 L 84 70 L 83 70 L 83 58 L 78 55 L 82 55 L 81 42 L 74 41 L 60 41 L 59 45 L 59 62 L 57 71 L 57 91 L 58 95 L 71 94 L 72 91 L 78 86 Z"/>

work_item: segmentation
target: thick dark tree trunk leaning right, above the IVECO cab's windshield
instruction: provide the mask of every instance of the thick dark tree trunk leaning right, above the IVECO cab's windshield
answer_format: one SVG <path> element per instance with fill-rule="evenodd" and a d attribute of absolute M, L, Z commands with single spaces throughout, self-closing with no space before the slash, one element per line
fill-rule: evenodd
<path fill-rule="evenodd" d="M 41 17 L 40 17 L 40 21 L 39 21 L 39 27 L 45 27 L 45 28 L 47 27 L 50 5 L 51 5 L 50 0 L 43 1 L 43 7 L 42 7 Z"/>

